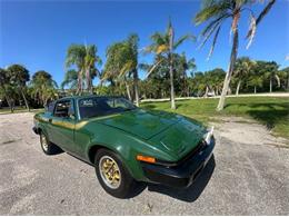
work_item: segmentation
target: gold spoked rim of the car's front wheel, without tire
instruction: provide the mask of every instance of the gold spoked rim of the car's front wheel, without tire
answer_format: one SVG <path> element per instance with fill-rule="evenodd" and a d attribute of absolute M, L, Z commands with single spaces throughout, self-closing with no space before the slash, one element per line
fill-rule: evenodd
<path fill-rule="evenodd" d="M 117 189 L 121 183 L 121 174 L 119 166 L 114 159 L 109 156 L 102 156 L 99 160 L 99 171 L 104 184 Z"/>

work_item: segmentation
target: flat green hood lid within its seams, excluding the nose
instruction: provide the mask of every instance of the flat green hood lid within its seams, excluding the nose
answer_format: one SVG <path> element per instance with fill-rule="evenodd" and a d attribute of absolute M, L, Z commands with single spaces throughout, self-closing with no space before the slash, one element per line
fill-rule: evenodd
<path fill-rule="evenodd" d="M 163 111 L 147 111 L 143 109 L 134 109 L 98 120 L 102 125 L 117 128 L 144 140 L 165 131 L 178 121 L 180 119 L 176 115 Z"/>

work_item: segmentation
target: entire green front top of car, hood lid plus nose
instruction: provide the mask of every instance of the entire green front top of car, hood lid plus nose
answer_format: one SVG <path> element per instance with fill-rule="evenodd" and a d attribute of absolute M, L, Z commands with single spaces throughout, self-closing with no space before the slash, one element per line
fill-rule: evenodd
<path fill-rule="evenodd" d="M 206 134 L 206 128 L 199 122 L 165 111 L 136 109 L 98 121 L 144 139 L 175 159 L 188 155 Z"/>

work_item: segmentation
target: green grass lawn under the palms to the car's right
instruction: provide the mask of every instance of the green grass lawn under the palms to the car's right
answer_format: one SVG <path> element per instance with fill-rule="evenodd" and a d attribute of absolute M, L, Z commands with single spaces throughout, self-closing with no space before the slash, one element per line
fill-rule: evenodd
<path fill-rule="evenodd" d="M 219 99 L 190 99 L 177 101 L 177 110 L 199 121 L 208 122 L 225 116 L 252 118 L 277 136 L 289 139 L 289 98 L 281 97 L 238 97 L 227 98 L 225 110 L 216 111 Z M 170 102 L 142 102 L 142 108 L 172 111 Z"/>

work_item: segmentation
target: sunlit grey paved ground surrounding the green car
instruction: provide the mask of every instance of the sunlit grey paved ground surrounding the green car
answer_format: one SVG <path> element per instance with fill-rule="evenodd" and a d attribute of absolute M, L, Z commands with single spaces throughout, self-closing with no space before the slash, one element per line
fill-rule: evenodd
<path fill-rule="evenodd" d="M 143 186 L 130 199 L 67 154 L 44 156 L 31 127 L 31 114 L 0 116 L 0 215 L 289 215 L 289 149 L 255 140 L 258 125 L 217 127 L 215 159 L 189 189 Z"/>

